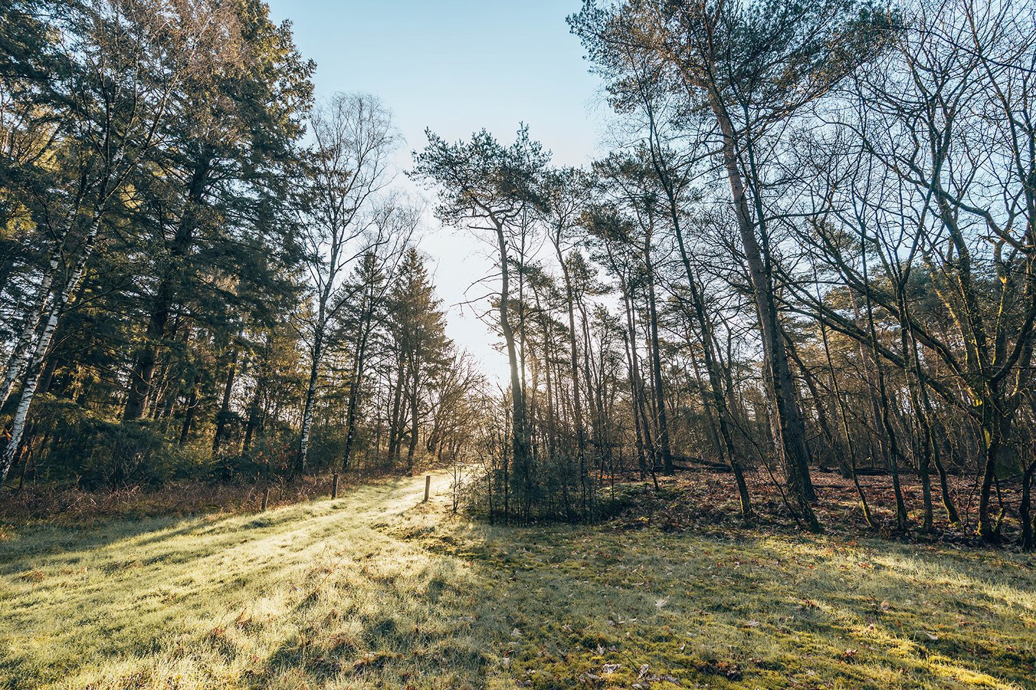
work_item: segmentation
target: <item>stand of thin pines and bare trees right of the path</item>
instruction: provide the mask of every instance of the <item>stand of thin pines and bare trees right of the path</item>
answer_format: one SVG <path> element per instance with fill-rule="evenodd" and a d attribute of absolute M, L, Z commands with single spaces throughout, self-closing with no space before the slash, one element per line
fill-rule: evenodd
<path fill-rule="evenodd" d="M 415 174 L 499 270 L 510 393 L 476 437 L 477 508 L 593 517 L 614 473 L 703 460 L 746 521 L 754 470 L 819 531 L 825 467 L 887 473 L 900 534 L 965 519 L 963 480 L 981 538 L 1011 521 L 1032 548 L 1034 17 L 586 0 L 569 24 L 610 154 L 557 169 L 524 128 L 429 132 Z"/>

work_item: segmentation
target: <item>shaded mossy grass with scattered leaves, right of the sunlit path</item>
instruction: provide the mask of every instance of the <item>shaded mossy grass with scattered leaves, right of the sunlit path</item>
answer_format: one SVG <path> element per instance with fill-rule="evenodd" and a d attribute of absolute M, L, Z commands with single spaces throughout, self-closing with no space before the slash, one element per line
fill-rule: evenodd
<path fill-rule="evenodd" d="M 510 566 L 526 583 L 516 591 L 535 582 L 557 599 L 554 593 L 567 590 L 568 640 L 593 632 L 598 655 L 577 658 L 597 664 L 598 673 L 622 664 L 627 677 L 620 668 L 611 682 L 633 683 L 648 667 L 656 671 L 649 676 L 710 687 L 1025 687 L 1036 671 L 1034 577 L 1019 559 L 656 532 L 578 530 L 548 541 L 549 569 L 534 567 L 530 575 Z M 517 542 L 513 548 L 535 553 L 544 539 Z M 498 567 L 514 560 L 505 557 Z M 959 601 L 984 607 L 985 616 L 965 619 L 953 609 Z M 538 610 L 529 601 L 516 608 Z M 536 616 L 527 625 L 548 633 L 556 622 Z M 554 656 L 571 666 L 573 646 L 556 648 Z M 536 655 L 525 662 L 543 665 Z"/>

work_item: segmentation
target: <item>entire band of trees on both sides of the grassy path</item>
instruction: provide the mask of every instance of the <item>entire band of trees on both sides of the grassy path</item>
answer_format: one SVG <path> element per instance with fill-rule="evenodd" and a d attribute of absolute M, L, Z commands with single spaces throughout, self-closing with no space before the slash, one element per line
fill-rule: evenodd
<path fill-rule="evenodd" d="M 815 532 L 813 473 L 876 528 L 882 472 L 896 533 L 967 519 L 965 478 L 979 536 L 1034 548 L 1033 9 L 585 0 L 607 155 L 429 131 L 408 172 L 492 248 L 494 390 L 445 335 L 390 113 L 315 102 L 265 5 L 17 0 L 0 482 L 436 458 L 491 519 L 587 520 L 616 477 L 703 464 L 746 522 L 761 476 Z"/>

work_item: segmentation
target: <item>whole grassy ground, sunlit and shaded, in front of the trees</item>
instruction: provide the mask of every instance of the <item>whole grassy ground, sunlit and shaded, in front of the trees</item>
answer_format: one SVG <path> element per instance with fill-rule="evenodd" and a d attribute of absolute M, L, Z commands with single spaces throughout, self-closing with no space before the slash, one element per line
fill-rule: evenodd
<path fill-rule="evenodd" d="M 1036 687 L 1026 554 L 491 527 L 452 514 L 449 482 L 427 504 L 419 477 L 265 513 L 8 519 L 0 687 Z"/>

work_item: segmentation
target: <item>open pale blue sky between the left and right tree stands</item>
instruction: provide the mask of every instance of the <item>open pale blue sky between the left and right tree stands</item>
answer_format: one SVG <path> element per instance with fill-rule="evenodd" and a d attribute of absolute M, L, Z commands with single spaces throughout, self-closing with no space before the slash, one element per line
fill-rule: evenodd
<path fill-rule="evenodd" d="M 581 164 L 597 151 L 605 107 L 587 72 L 579 40 L 565 17 L 580 0 L 269 0 L 276 21 L 290 19 L 295 42 L 316 61 L 318 97 L 336 91 L 373 93 L 393 111 L 406 140 L 399 155 L 423 148 L 425 128 L 448 140 L 485 127 L 510 141 L 519 122 L 559 164 Z M 401 186 L 413 189 L 405 180 Z M 429 200 L 431 202 L 431 200 Z M 466 231 L 429 218 L 421 248 L 433 264 L 439 296 L 465 300 L 488 270 L 486 247 Z M 474 288 L 470 299 L 484 294 Z M 470 309 L 450 311 L 448 332 L 503 370 L 494 338 Z"/>

